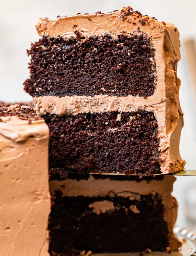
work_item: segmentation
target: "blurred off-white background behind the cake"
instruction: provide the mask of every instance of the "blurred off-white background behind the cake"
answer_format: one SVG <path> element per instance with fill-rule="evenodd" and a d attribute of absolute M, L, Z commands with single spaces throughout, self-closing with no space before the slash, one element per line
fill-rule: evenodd
<path fill-rule="evenodd" d="M 130 5 L 142 14 L 174 23 L 180 32 L 181 61 L 178 77 L 182 81 L 180 100 L 184 111 L 181 155 L 186 169 L 196 169 L 196 1 L 195 0 L 1 0 L 0 9 L 0 101 L 30 101 L 23 91 L 29 77 L 26 49 L 38 40 L 35 24 L 39 17 L 74 15 L 120 10 Z M 174 185 L 179 202 L 177 224 L 196 231 L 196 177 L 181 176 Z"/>

